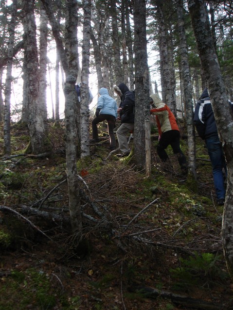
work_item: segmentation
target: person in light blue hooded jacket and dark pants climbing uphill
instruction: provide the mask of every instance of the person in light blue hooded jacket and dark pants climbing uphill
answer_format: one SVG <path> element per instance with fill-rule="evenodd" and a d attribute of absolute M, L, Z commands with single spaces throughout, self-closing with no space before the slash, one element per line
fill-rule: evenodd
<path fill-rule="evenodd" d="M 110 150 L 116 149 L 116 138 L 114 135 L 114 127 L 117 114 L 117 103 L 112 97 L 108 95 L 108 89 L 102 87 L 99 90 L 99 98 L 97 101 L 97 108 L 95 112 L 95 118 L 91 122 L 92 126 L 92 139 L 95 142 L 99 141 L 97 124 L 107 120 L 108 122 L 108 134 L 110 137 Z"/>

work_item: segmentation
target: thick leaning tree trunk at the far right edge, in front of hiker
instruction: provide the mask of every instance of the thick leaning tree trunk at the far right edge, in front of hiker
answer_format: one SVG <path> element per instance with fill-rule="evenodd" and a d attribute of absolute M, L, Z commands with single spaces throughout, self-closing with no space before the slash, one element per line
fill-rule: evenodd
<path fill-rule="evenodd" d="M 188 0 L 188 8 L 206 85 L 210 92 L 218 135 L 227 163 L 228 178 L 222 221 L 222 242 L 227 268 L 233 278 L 233 113 L 218 64 L 205 3 L 203 0 Z"/>

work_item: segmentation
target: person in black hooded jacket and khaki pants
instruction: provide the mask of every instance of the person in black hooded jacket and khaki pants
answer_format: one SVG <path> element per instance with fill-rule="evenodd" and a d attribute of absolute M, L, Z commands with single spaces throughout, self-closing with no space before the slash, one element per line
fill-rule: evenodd
<path fill-rule="evenodd" d="M 120 83 L 118 86 L 114 86 L 115 93 L 121 98 L 120 106 L 117 110 L 119 113 L 119 120 L 121 120 L 121 126 L 118 128 L 116 134 L 121 154 L 117 154 L 118 157 L 128 156 L 130 148 L 128 147 L 127 134 L 134 130 L 134 103 L 135 96 L 134 91 L 129 91 L 125 83 Z"/>

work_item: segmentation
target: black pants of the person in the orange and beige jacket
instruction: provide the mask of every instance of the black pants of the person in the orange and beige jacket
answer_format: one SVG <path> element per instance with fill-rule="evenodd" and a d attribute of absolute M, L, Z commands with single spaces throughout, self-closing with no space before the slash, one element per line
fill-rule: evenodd
<path fill-rule="evenodd" d="M 187 161 L 183 152 L 179 146 L 179 131 L 178 130 L 170 130 L 162 133 L 158 147 L 157 153 L 162 162 L 166 162 L 168 160 L 168 155 L 165 149 L 170 145 L 172 147 L 173 153 L 177 155 L 178 162 L 181 169 L 187 169 Z"/>

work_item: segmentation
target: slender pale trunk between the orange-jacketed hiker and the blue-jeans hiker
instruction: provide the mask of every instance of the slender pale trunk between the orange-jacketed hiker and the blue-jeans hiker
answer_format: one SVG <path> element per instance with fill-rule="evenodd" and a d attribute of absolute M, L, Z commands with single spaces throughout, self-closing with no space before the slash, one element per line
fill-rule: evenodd
<path fill-rule="evenodd" d="M 183 19 L 183 0 L 177 3 L 177 16 L 179 28 L 179 52 L 181 58 L 181 69 L 184 86 L 184 102 L 186 110 L 186 124 L 188 136 L 188 168 L 190 176 L 197 179 L 196 176 L 196 147 L 195 147 L 195 129 L 194 129 L 194 109 L 192 100 L 192 83 L 188 63 L 188 49 L 184 30 Z"/>

